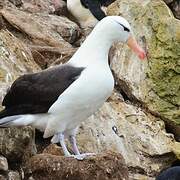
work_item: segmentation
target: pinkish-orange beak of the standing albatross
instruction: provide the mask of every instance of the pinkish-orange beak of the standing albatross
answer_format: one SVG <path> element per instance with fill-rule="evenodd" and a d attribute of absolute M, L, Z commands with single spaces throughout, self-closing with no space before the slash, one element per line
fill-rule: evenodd
<path fill-rule="evenodd" d="M 132 49 L 137 56 L 143 60 L 146 57 L 146 52 L 138 45 L 136 39 L 130 36 L 127 40 L 127 45 Z"/>

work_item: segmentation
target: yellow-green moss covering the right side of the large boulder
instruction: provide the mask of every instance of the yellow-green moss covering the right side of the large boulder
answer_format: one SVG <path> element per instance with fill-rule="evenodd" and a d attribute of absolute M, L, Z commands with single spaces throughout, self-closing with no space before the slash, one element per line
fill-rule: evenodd
<path fill-rule="evenodd" d="M 147 10 L 153 14 L 147 22 L 152 26 L 147 74 L 158 97 L 147 101 L 161 115 L 180 124 L 180 21 L 163 15 L 164 10 L 168 14 L 164 6 L 155 4 Z"/>

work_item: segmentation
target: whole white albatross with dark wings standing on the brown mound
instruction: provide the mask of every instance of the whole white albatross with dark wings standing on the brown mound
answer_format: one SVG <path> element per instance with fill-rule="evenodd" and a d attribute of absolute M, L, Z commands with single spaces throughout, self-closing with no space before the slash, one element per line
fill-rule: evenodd
<path fill-rule="evenodd" d="M 5 95 L 0 127 L 33 126 L 53 136 L 65 156 L 83 159 L 76 133 L 81 122 L 96 112 L 111 95 L 114 78 L 108 52 L 114 42 L 127 43 L 140 59 L 145 51 L 133 37 L 129 23 L 120 16 L 102 19 L 73 57 L 63 65 L 17 78 Z M 72 144 L 71 154 L 65 139 Z"/>

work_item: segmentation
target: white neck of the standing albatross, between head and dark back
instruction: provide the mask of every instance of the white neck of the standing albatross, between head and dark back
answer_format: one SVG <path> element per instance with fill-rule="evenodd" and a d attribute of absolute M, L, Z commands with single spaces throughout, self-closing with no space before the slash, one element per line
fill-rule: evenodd
<path fill-rule="evenodd" d="M 107 33 L 96 29 L 91 32 L 74 56 L 69 60 L 75 66 L 91 65 L 98 61 L 108 64 L 108 53 L 112 46 L 113 40 L 108 38 Z"/>

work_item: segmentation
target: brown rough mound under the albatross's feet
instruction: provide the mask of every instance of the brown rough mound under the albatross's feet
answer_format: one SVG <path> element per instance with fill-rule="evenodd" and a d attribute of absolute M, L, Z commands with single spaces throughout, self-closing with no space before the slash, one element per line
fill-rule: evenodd
<path fill-rule="evenodd" d="M 119 153 L 107 152 L 83 161 L 64 156 L 38 154 L 31 158 L 34 179 L 128 180 L 128 170 Z"/>

